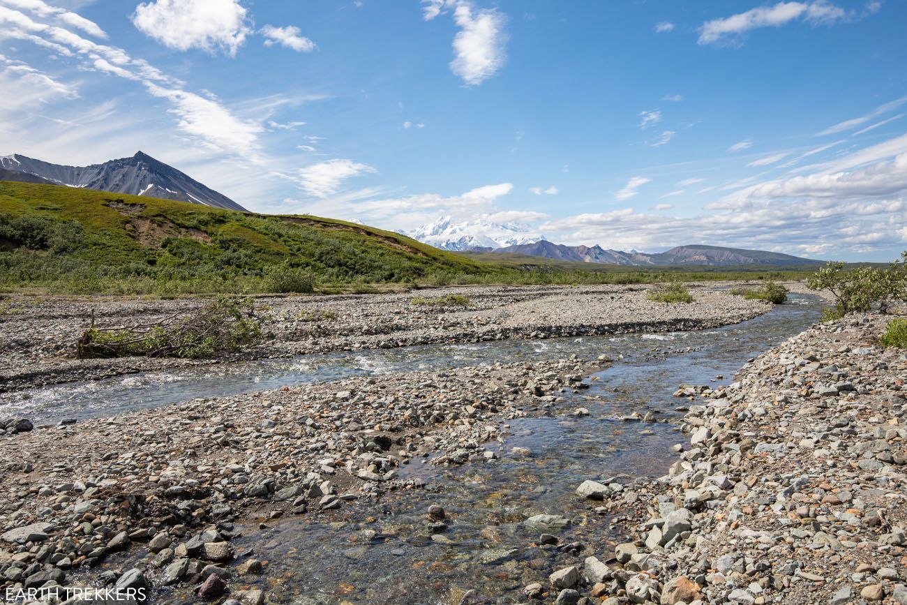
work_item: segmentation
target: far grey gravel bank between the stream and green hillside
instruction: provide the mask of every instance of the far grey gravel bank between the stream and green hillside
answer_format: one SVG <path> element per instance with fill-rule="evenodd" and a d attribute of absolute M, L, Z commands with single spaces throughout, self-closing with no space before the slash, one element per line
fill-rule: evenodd
<path fill-rule="evenodd" d="M 241 359 L 470 343 L 706 329 L 765 313 L 771 305 L 692 285 L 695 302 L 649 301 L 649 287 L 467 287 L 409 293 L 260 297 L 266 340 L 241 355 L 219 359 L 74 359 L 78 335 L 99 327 L 150 324 L 190 313 L 204 300 L 10 298 L 0 314 L 0 392 L 40 385 Z M 450 304 L 429 303 L 456 296 Z"/>

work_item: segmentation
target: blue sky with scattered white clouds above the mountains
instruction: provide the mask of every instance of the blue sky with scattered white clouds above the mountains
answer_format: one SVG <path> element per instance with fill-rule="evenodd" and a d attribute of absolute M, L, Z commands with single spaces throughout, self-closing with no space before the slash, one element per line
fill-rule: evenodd
<path fill-rule="evenodd" d="M 564 244 L 907 249 L 907 0 L 0 0 L 0 153 Z"/>

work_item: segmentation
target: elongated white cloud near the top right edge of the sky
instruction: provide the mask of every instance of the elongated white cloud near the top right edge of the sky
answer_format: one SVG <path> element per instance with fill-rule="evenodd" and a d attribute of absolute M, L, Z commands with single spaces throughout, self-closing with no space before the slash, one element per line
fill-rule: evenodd
<path fill-rule="evenodd" d="M 846 16 L 843 8 L 825 0 L 779 2 L 773 6 L 758 6 L 745 13 L 707 21 L 699 28 L 698 42 L 716 44 L 759 27 L 780 27 L 801 18 L 810 24 L 834 24 Z"/>

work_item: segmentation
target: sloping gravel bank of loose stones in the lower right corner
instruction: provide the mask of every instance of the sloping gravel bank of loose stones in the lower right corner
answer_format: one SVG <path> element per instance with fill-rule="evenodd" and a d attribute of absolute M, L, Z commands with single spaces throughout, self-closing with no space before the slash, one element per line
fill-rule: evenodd
<path fill-rule="evenodd" d="M 907 602 L 907 356 L 878 345 L 889 319 L 818 325 L 733 385 L 681 387 L 678 462 L 595 503 L 636 541 L 540 587 L 609 605 Z"/>

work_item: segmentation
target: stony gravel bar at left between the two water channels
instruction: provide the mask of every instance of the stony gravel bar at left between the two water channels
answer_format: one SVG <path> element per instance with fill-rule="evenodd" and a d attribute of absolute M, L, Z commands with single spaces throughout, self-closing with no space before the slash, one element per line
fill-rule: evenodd
<path fill-rule="evenodd" d="M 424 457 L 493 459 L 486 444 L 502 420 L 543 413 L 607 363 L 357 378 L 0 437 L 0 590 L 109 581 L 187 591 L 212 574 L 254 577 L 262 562 L 229 543 L 234 522 L 374 506 L 421 487 L 397 473 Z M 123 551 L 141 561 L 135 571 L 84 574 Z"/>

